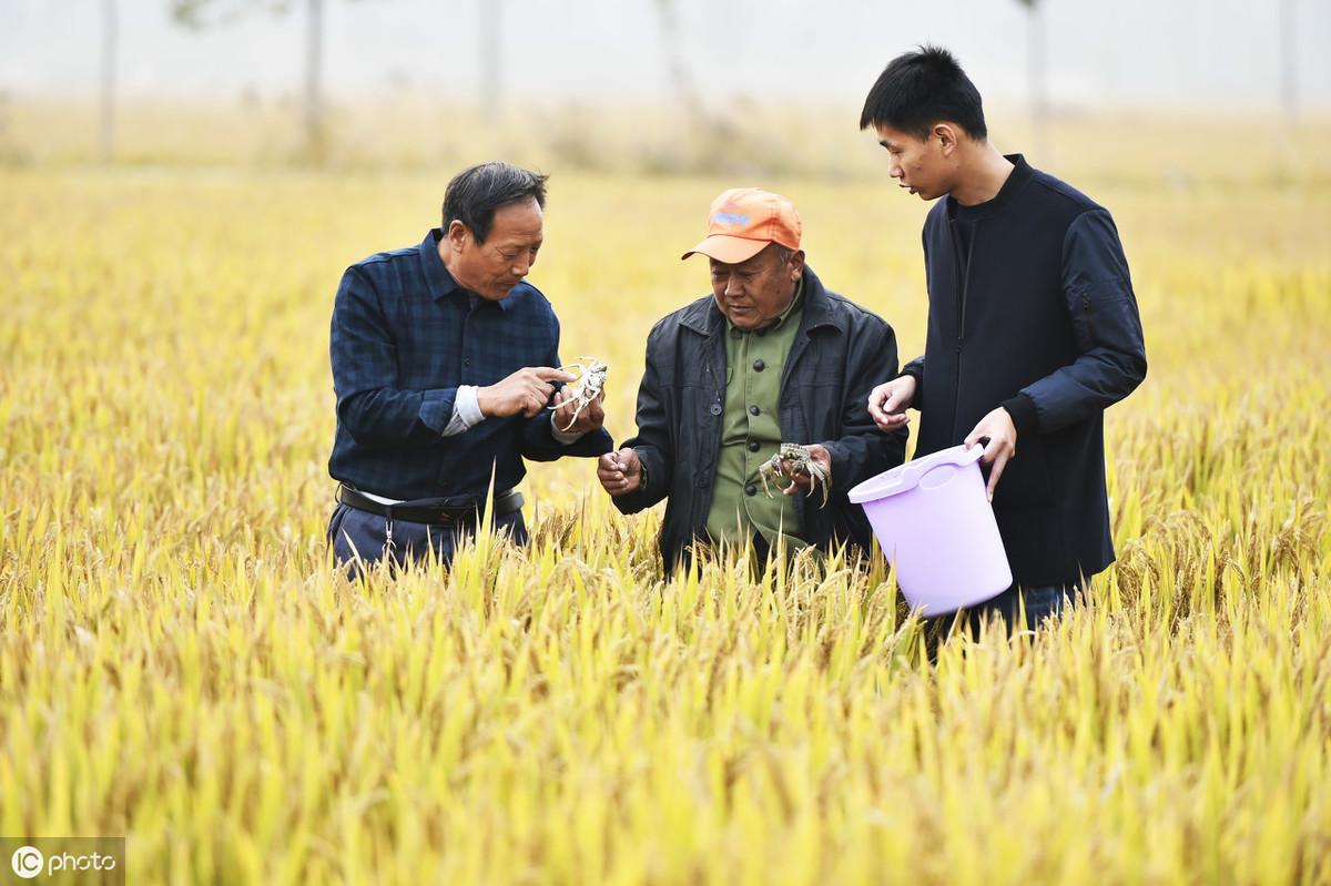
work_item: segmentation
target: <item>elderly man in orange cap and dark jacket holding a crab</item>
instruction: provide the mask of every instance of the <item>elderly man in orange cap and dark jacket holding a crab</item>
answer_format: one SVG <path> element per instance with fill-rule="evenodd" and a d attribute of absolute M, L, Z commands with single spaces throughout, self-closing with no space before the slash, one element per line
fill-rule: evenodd
<path fill-rule="evenodd" d="M 723 193 L 707 238 L 683 255 L 707 258 L 711 294 L 648 335 L 638 435 L 600 458 L 598 479 L 624 514 L 667 500 L 667 565 L 699 540 L 760 559 L 781 536 L 789 548 L 870 544 L 845 494 L 905 456 L 906 431 L 880 432 L 866 407 L 874 382 L 897 372 L 896 337 L 823 286 L 801 231 L 780 194 Z M 807 447 L 811 464 L 773 462 L 783 444 Z M 767 494 L 768 463 L 785 475 L 781 495 Z"/>

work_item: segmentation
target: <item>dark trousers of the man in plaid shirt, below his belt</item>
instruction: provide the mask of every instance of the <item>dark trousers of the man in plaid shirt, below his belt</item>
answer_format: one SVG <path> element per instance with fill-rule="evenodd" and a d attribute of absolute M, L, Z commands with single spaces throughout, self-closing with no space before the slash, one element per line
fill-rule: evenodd
<path fill-rule="evenodd" d="M 393 544 L 389 544 L 389 528 L 393 531 Z M 514 511 L 494 519 L 495 533 L 507 535 L 518 544 L 527 544 L 527 524 L 522 511 Z M 339 564 L 347 567 L 353 576 L 359 575 L 371 563 L 378 563 L 387 553 L 399 567 L 407 560 L 425 560 L 434 556 L 445 564 L 453 563 L 453 555 L 463 539 L 475 536 L 473 524 L 458 527 L 431 525 L 429 523 L 409 523 L 393 520 L 369 511 L 359 511 L 346 504 L 338 504 L 329 520 L 329 544 Z"/>

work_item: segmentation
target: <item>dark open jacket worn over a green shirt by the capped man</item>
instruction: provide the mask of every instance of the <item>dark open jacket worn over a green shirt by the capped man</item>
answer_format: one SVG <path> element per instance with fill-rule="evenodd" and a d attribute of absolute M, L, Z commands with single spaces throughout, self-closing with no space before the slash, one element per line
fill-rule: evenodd
<path fill-rule="evenodd" d="M 881 432 L 869 418 L 874 384 L 897 374 L 897 342 L 876 314 L 831 293 L 804 269 L 804 313 L 781 378 L 780 424 L 787 443 L 820 443 L 832 455 L 832 498 L 796 496 L 799 536 L 828 547 L 872 544 L 864 511 L 847 490 L 901 464 L 906 431 Z M 638 391 L 638 451 L 648 486 L 614 499 L 636 514 L 662 499 L 660 552 L 673 564 L 705 537 L 725 402 L 725 318 L 712 295 L 663 318 L 647 338 L 647 369 Z"/>

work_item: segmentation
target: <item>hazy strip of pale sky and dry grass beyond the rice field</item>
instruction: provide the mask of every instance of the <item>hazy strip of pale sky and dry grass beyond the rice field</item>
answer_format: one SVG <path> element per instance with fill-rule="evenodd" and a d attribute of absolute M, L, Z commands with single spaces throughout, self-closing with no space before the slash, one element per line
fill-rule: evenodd
<path fill-rule="evenodd" d="M 937 41 L 1037 165 L 1288 178 L 1328 37 L 1326 0 L 0 0 L 0 162 L 872 176 L 860 101 Z"/>

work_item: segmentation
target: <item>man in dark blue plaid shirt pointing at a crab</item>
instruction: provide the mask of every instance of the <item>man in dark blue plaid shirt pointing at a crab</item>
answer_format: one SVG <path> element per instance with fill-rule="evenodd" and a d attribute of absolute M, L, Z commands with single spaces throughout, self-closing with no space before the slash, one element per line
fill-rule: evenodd
<path fill-rule="evenodd" d="M 559 321 L 523 279 L 540 249 L 544 202 L 544 176 L 473 166 L 449 182 L 442 227 L 343 274 L 329 349 L 329 474 L 341 482 L 329 540 L 341 563 L 401 564 L 431 549 L 449 561 L 484 511 L 526 543 L 514 490 L 523 459 L 611 450 L 602 398 L 575 419 L 556 390 L 575 380 L 556 369 Z"/>

